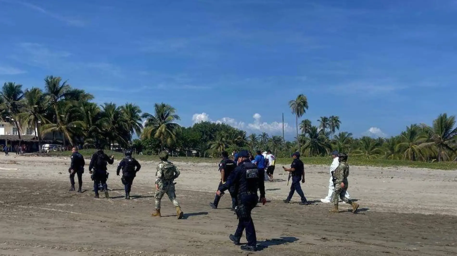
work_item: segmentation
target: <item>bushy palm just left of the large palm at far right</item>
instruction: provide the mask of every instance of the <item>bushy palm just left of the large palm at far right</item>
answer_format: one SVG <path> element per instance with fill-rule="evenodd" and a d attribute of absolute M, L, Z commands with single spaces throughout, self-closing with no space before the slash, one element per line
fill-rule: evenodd
<path fill-rule="evenodd" d="M 423 133 L 417 124 L 411 124 L 406 128 L 405 132 L 400 135 L 402 142 L 397 144 L 397 150 L 404 150 L 404 159 L 415 161 L 416 159 L 424 159 L 422 154 L 421 143 L 427 140 L 425 133 Z"/>

